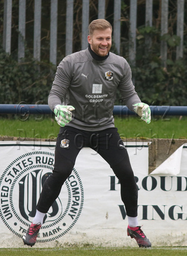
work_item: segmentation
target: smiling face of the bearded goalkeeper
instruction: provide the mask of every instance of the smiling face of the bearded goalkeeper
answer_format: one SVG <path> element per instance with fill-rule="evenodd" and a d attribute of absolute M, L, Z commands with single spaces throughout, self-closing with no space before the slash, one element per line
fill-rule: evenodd
<path fill-rule="evenodd" d="M 106 56 L 111 48 L 111 29 L 94 30 L 93 35 L 88 36 L 88 43 L 98 56 Z"/>

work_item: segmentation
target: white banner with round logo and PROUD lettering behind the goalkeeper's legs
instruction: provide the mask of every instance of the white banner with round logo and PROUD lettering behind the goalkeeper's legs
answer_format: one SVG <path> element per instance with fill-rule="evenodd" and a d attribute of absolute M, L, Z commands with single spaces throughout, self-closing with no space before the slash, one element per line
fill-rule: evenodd
<path fill-rule="evenodd" d="M 139 189 L 139 225 L 153 246 L 186 245 L 187 148 L 182 147 L 177 175 L 148 175 L 148 144 L 124 143 Z M 1 142 L 0 151 L 0 247 L 22 247 L 42 185 L 52 172 L 55 143 Z M 35 246 L 137 246 L 127 237 L 127 225 L 117 177 L 101 156 L 83 148 Z"/>

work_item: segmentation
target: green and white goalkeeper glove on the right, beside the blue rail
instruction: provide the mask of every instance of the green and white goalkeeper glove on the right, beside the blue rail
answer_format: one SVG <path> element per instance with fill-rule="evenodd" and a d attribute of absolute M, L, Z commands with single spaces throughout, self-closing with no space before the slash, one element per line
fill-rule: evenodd
<path fill-rule="evenodd" d="M 143 121 L 145 121 L 146 123 L 151 123 L 151 109 L 149 108 L 149 105 L 140 102 L 132 106 L 134 106 L 134 112 L 142 117 L 141 119 Z"/>

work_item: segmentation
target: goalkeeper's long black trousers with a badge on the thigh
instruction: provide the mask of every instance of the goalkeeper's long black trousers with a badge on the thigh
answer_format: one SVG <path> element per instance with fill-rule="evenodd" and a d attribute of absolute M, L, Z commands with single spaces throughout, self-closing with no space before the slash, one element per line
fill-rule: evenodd
<path fill-rule="evenodd" d="M 109 163 L 120 181 L 120 194 L 128 216 L 136 217 L 138 189 L 131 168 L 128 153 L 117 128 L 91 132 L 61 127 L 55 149 L 55 166 L 45 180 L 37 209 L 47 213 L 60 193 L 61 186 L 71 174 L 78 153 L 83 147 L 90 147 Z"/>

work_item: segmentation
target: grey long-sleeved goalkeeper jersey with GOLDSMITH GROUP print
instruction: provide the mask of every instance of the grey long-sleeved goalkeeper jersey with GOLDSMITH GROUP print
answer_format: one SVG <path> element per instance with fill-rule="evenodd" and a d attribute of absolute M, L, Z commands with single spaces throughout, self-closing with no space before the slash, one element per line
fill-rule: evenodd
<path fill-rule="evenodd" d="M 124 105 L 140 101 L 131 80 L 127 61 L 114 53 L 105 60 L 94 60 L 85 49 L 66 56 L 57 67 L 48 97 L 53 111 L 56 105 L 72 105 L 68 126 L 97 131 L 114 127 L 114 101 L 119 89 Z"/>

